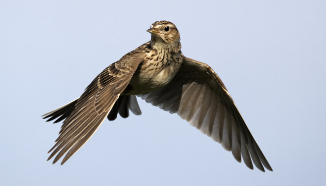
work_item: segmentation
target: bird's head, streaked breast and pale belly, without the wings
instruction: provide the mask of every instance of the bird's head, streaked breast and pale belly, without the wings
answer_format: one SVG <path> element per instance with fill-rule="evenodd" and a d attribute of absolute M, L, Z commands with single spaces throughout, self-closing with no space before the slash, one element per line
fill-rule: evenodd
<path fill-rule="evenodd" d="M 184 60 L 176 26 L 167 21 L 155 23 L 149 32 L 164 32 L 162 28 L 169 27 L 172 32 L 170 34 L 176 38 L 163 41 L 161 37 L 153 34 L 151 41 L 135 50 L 143 53 L 144 61 L 140 63 L 129 83 L 133 90 L 126 95 L 145 94 L 163 88 L 174 78 Z"/>

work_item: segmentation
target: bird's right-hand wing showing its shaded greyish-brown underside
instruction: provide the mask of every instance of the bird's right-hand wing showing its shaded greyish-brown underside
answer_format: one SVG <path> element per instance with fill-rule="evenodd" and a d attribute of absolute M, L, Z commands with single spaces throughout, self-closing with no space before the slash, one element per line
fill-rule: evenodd
<path fill-rule="evenodd" d="M 252 159 L 259 170 L 265 172 L 264 165 L 273 171 L 222 80 L 209 65 L 185 58 L 167 86 L 141 98 L 171 114 L 177 113 L 221 143 L 226 150 L 232 151 L 238 162 L 241 162 L 242 154 L 250 169 L 253 169 Z"/>

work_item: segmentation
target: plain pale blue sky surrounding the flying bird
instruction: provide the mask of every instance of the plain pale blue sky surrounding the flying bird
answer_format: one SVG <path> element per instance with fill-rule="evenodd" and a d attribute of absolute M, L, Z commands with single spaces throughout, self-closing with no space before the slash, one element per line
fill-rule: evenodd
<path fill-rule="evenodd" d="M 141 99 L 141 116 L 105 120 L 63 166 L 46 161 L 61 124 L 41 115 L 149 41 L 157 20 L 219 74 L 274 172 Z M 0 0 L 0 185 L 321 186 L 325 82 L 325 0 Z"/>

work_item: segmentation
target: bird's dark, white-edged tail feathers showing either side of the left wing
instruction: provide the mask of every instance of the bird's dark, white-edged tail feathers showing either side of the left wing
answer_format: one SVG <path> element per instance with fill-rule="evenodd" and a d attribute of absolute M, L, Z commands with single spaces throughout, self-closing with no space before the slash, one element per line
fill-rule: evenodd
<path fill-rule="evenodd" d="M 75 110 L 76 103 L 78 102 L 78 99 L 75 99 L 74 101 L 58 108 L 55 109 L 54 111 L 51 111 L 42 117 L 43 119 L 47 119 L 47 122 L 55 120 L 53 123 L 58 123 L 61 122 L 62 120 L 68 118 L 71 113 Z M 129 110 L 134 113 L 135 115 L 141 115 L 140 107 L 137 102 L 137 98 L 135 95 L 128 95 L 128 96 L 123 96 L 121 95 L 119 99 L 115 102 L 114 106 L 112 107 L 109 115 L 107 116 L 107 119 L 109 121 L 113 121 L 117 118 L 117 115 L 119 115 L 122 118 L 128 118 L 129 116 Z"/>

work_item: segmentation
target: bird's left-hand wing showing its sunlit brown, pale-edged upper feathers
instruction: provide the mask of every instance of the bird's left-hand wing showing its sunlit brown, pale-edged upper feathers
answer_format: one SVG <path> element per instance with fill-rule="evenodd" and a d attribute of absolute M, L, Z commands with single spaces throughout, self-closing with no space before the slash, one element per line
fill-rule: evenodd
<path fill-rule="evenodd" d="M 68 152 L 61 162 L 62 165 L 92 137 L 143 59 L 140 48 L 128 53 L 97 75 L 79 99 L 46 114 L 56 113 L 54 117 L 62 115 L 60 113 L 69 115 L 62 115 L 66 119 L 61 126 L 56 144 L 49 151 L 53 152 L 47 160 L 58 153 L 53 160 L 54 164 Z"/>

